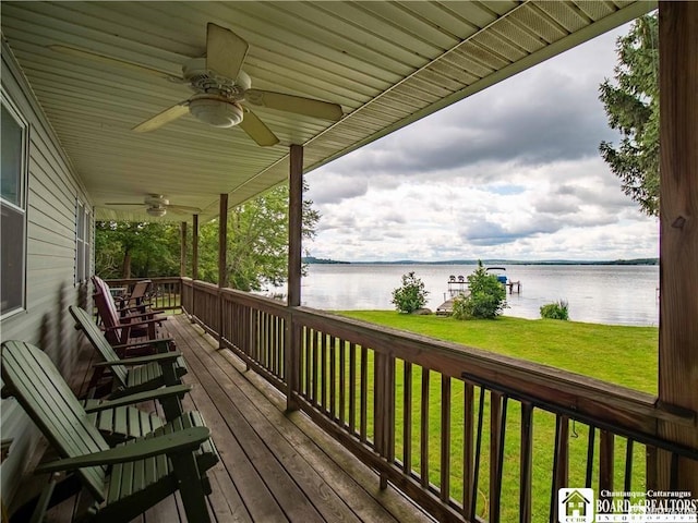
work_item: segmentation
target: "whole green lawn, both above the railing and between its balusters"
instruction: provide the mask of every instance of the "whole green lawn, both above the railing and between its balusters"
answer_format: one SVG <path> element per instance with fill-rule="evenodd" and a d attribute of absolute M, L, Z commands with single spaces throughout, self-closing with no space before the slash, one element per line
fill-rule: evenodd
<path fill-rule="evenodd" d="M 423 336 L 462 343 L 470 346 L 492 351 L 498 354 L 519 357 L 537 363 L 564 368 L 573 373 L 594 377 L 616 385 L 634 388 L 649 393 L 657 393 L 657 345 L 658 329 L 654 327 L 623 327 L 594 324 L 582 324 L 559 320 L 528 320 L 513 317 L 501 317 L 496 320 L 459 321 L 447 317 L 411 316 L 389 311 L 352 311 L 341 313 L 344 316 L 366 320 L 397 329 L 408 330 Z M 372 353 L 369 358 L 369 382 L 373 382 Z M 440 485 L 441 440 L 442 440 L 442 385 L 437 373 L 430 373 L 430 408 L 429 408 L 429 477 L 430 482 Z M 413 368 L 411 375 L 412 430 L 411 461 L 414 471 L 420 470 L 420 423 L 422 373 Z M 404 374 L 402 364 L 397 362 L 396 368 L 396 455 L 404 459 L 405 442 L 402 440 L 404 411 L 402 403 Z M 459 380 L 452 382 L 450 405 L 450 496 L 462 500 L 462 398 L 464 385 Z M 479 397 L 476 390 L 476 405 Z M 480 499 L 478 513 L 486 516 L 486 499 L 489 496 L 489 396 L 485 402 L 484 430 L 481 453 L 481 473 L 479 476 Z M 371 409 L 372 401 L 369 401 Z M 369 413 L 371 424 L 372 412 Z M 369 427 L 369 434 L 372 433 Z M 510 402 L 507 411 L 507 437 L 505 439 L 505 465 L 502 487 L 502 521 L 518 521 L 519 496 L 519 454 L 520 454 L 520 405 Z M 583 424 L 570 426 L 569 439 L 569 486 L 583 486 L 586 471 L 586 453 L 588 427 Z M 551 470 L 553 446 L 555 440 L 555 416 L 534 411 L 533 418 L 533 521 L 547 519 L 551 500 Z M 623 485 L 625 467 L 625 439 L 616 438 L 615 485 Z M 599 437 L 595 439 L 595 460 L 599 457 Z M 634 449 L 634 489 L 642 490 L 645 475 L 643 448 Z M 598 481 L 598 465 L 594 470 Z"/>

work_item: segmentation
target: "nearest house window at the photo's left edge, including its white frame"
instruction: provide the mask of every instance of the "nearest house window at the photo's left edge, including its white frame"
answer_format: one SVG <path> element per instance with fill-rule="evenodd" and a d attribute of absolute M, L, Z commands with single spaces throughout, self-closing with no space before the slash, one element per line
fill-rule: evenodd
<path fill-rule="evenodd" d="M 0 171 L 0 315 L 24 308 L 26 271 L 27 124 L 2 93 Z"/>

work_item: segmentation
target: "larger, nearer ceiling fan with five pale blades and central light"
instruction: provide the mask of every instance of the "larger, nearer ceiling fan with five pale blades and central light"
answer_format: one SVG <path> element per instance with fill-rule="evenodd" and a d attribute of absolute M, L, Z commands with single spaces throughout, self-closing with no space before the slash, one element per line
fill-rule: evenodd
<path fill-rule="evenodd" d="M 342 117 L 341 107 L 337 104 L 252 88 L 250 76 L 241 69 L 249 44 L 232 31 L 212 22 L 206 27 L 206 57 L 189 60 L 182 66 L 182 77 L 87 50 L 67 46 L 50 47 L 59 52 L 117 62 L 165 76 L 172 82 L 189 83 L 194 95 L 133 127 L 133 131 L 140 133 L 154 131 L 190 112 L 194 118 L 216 127 L 239 125 L 258 145 L 272 146 L 278 144 L 279 138 L 248 105 L 330 121 L 338 121 Z"/>

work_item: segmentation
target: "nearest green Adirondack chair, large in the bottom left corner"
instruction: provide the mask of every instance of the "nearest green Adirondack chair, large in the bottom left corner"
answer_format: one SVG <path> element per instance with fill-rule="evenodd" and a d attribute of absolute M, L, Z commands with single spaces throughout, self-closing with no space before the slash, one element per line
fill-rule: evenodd
<path fill-rule="evenodd" d="M 200 459 L 202 446 L 210 442 L 207 427 L 168 424 L 167 428 L 109 448 L 48 355 L 38 348 L 21 341 L 2 343 L 2 379 L 4 393 L 17 399 L 61 458 L 39 465 L 35 472 L 76 477 L 95 501 L 85 514 L 88 521 L 131 521 L 177 490 L 189 522 L 210 521 L 206 471 L 218 455 L 207 453 L 206 459 Z M 213 445 L 209 448 L 215 452 Z"/>

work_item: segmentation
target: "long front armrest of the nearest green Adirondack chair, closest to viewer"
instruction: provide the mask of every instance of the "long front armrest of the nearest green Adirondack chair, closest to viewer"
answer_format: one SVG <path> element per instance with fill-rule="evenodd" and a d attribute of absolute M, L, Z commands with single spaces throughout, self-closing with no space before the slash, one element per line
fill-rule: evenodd
<path fill-rule="evenodd" d="M 35 474 L 74 471 L 85 466 L 105 466 L 144 460 L 154 455 L 176 454 L 196 449 L 210 437 L 207 427 L 193 427 L 154 438 L 136 439 L 113 449 L 52 461 L 39 465 Z"/>

